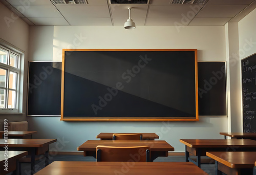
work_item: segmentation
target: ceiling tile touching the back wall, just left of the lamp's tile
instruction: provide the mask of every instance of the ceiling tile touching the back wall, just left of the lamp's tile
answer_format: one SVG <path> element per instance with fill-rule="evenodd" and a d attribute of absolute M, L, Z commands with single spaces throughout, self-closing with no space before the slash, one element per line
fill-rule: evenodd
<path fill-rule="evenodd" d="M 67 17 L 72 26 L 112 26 L 110 17 Z"/>

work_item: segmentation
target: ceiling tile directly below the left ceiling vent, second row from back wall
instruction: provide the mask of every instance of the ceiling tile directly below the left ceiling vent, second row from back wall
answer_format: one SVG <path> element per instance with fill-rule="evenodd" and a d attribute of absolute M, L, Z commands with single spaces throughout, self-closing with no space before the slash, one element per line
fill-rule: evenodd
<path fill-rule="evenodd" d="M 60 13 L 65 17 L 110 17 L 108 6 L 58 5 Z"/>

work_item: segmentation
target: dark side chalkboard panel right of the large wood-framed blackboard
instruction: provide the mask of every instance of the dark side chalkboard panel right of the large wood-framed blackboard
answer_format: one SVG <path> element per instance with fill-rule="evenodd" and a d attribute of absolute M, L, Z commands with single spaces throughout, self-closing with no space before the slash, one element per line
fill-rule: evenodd
<path fill-rule="evenodd" d="M 198 62 L 199 116 L 226 116 L 226 63 Z"/>

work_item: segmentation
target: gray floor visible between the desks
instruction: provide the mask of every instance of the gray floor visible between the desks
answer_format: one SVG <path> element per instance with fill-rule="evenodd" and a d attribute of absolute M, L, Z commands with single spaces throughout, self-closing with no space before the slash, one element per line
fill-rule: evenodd
<path fill-rule="evenodd" d="M 50 155 L 49 163 L 53 161 L 88 161 L 95 162 L 96 159 L 93 157 L 84 157 L 82 155 Z M 45 159 L 38 160 L 35 166 L 36 172 L 44 168 Z M 154 162 L 185 162 L 185 156 L 168 156 L 168 157 L 158 157 Z M 22 163 L 22 175 L 30 175 L 30 164 Z M 201 168 L 207 172 L 209 175 L 215 174 L 215 165 L 201 165 Z M 11 174 L 11 173 L 10 173 Z M 9 175 L 9 174 L 8 174 Z M 75 174 L 74 174 L 75 175 Z"/>

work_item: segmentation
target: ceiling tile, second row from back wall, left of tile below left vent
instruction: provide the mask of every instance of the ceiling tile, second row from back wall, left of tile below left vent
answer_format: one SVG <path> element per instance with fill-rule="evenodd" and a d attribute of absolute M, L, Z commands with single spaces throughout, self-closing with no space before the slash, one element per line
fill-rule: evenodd
<path fill-rule="evenodd" d="M 28 8 L 24 6 L 13 7 L 26 17 L 62 17 L 53 5 L 29 6 Z"/>

